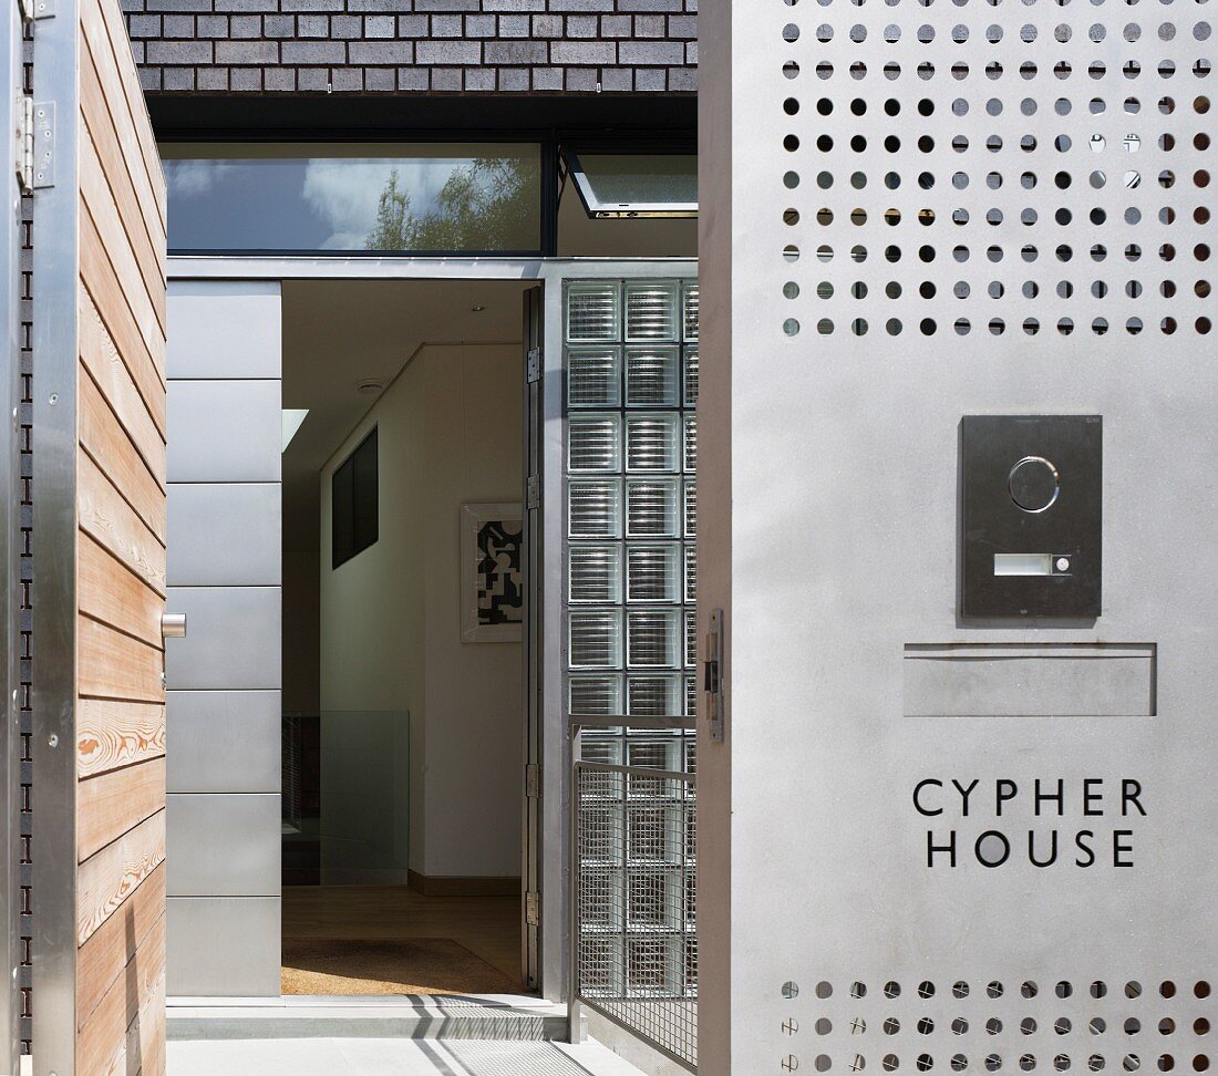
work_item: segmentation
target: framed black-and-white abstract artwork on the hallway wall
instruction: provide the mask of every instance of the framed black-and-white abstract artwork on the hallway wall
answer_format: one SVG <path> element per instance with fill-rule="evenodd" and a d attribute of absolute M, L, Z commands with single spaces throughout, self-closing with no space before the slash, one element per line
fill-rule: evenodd
<path fill-rule="evenodd" d="M 519 643 L 524 634 L 524 515 L 519 504 L 460 510 L 463 643 Z"/>

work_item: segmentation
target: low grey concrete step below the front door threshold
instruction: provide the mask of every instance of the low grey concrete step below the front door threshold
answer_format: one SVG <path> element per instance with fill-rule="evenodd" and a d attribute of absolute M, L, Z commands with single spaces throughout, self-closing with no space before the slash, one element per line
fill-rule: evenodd
<path fill-rule="evenodd" d="M 269 1038 L 569 1041 L 566 1007 L 526 994 L 171 998 L 167 1032 L 173 1042 Z"/>

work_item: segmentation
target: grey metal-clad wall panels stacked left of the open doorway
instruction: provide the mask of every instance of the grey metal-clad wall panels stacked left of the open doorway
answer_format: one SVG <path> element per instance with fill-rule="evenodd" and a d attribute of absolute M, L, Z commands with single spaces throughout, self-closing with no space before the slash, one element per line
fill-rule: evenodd
<path fill-rule="evenodd" d="M 279 993 L 279 284 L 169 286 L 168 993 Z"/>

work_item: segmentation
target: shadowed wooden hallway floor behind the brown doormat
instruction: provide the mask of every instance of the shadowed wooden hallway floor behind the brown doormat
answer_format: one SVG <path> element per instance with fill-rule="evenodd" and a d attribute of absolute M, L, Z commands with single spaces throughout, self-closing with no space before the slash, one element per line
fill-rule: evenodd
<path fill-rule="evenodd" d="M 283 936 L 285 949 L 322 938 L 446 938 L 498 973 L 482 983 L 463 983 L 464 992 L 499 993 L 503 976 L 521 982 L 519 897 L 425 897 L 406 886 L 285 886 Z M 516 990 L 525 992 L 523 985 Z"/>

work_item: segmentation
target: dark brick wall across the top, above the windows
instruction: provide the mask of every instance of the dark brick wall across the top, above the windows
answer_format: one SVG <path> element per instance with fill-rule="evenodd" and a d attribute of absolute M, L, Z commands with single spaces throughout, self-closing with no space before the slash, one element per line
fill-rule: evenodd
<path fill-rule="evenodd" d="M 697 0 L 123 0 L 151 91 L 692 93 Z"/>

